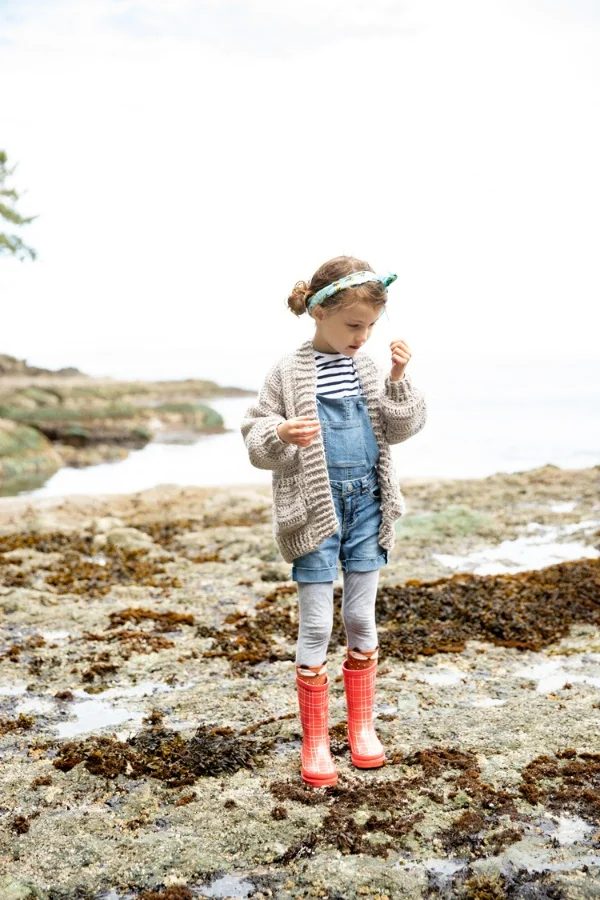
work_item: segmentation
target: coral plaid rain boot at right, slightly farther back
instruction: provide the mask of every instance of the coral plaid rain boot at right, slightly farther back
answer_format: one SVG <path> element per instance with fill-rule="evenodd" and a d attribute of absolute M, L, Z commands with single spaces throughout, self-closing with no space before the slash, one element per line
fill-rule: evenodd
<path fill-rule="evenodd" d="M 353 656 L 357 655 L 352 650 L 350 652 Z M 359 769 L 373 769 L 385 762 L 385 750 L 373 727 L 377 653 L 371 658 L 375 662 L 368 669 L 349 669 L 346 660 L 342 663 L 348 706 L 350 755 L 353 764 Z"/>

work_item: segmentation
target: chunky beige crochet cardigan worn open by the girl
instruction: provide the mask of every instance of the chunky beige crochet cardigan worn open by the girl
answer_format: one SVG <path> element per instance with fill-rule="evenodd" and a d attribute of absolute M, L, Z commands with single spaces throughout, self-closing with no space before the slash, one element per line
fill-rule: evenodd
<path fill-rule="evenodd" d="M 356 353 L 354 361 L 380 451 L 377 463 L 382 516 L 379 543 L 391 550 L 395 540 L 394 521 L 406 514 L 406 507 L 389 445 L 406 441 L 420 431 L 425 425 L 427 407 L 423 394 L 406 372 L 400 381 L 392 381 L 389 372 L 386 375 L 362 350 Z M 273 534 L 286 562 L 310 553 L 340 527 L 321 432 L 307 447 L 282 441 L 276 432 L 285 419 L 295 416 L 318 419 L 316 384 L 317 368 L 310 338 L 271 367 L 258 402 L 248 408 L 240 426 L 252 465 L 272 469 Z"/>

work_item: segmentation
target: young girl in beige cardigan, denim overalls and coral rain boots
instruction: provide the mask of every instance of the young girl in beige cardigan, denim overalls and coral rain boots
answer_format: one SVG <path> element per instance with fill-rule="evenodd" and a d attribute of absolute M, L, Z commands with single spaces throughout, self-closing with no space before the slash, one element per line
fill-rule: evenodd
<path fill-rule="evenodd" d="M 390 342 L 387 374 L 361 349 L 395 278 L 337 256 L 308 284 L 297 282 L 288 306 L 297 316 L 312 316 L 314 337 L 271 367 L 241 424 L 251 463 L 272 470 L 273 534 L 298 586 L 301 776 L 317 787 L 337 783 L 326 662 L 338 558 L 351 759 L 359 768 L 386 761 L 373 727 L 375 598 L 379 569 L 394 546 L 394 522 L 405 515 L 390 444 L 412 437 L 427 417 L 423 394 L 405 372 L 407 343 Z"/>

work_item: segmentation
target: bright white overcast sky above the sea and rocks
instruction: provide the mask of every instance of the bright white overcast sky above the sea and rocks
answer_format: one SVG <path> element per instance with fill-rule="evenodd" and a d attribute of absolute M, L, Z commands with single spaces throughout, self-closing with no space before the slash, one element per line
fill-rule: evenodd
<path fill-rule="evenodd" d="M 0 0 L 0 85 L 0 352 L 248 384 L 349 253 L 384 356 L 598 357 L 595 0 Z"/>

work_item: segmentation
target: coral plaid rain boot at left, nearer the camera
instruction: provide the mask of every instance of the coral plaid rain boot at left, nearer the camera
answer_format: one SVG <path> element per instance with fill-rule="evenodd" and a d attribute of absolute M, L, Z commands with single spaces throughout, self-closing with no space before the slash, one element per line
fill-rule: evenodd
<path fill-rule="evenodd" d="M 321 672 L 325 672 L 325 667 Z M 337 770 L 329 750 L 329 678 L 325 684 L 308 684 L 296 674 L 296 684 L 302 723 L 302 780 L 313 787 L 337 784 Z"/>

